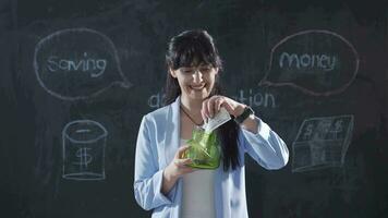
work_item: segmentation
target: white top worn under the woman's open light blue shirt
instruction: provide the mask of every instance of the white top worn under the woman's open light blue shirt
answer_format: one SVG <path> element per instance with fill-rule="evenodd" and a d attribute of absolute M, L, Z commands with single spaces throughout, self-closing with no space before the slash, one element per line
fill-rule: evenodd
<path fill-rule="evenodd" d="M 185 144 L 181 138 L 181 146 Z M 182 218 L 215 218 L 215 170 L 198 169 L 183 175 Z"/>

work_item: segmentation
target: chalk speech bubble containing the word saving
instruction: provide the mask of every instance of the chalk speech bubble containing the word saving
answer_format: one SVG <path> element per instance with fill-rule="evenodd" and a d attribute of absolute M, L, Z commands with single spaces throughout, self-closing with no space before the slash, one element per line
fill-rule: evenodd
<path fill-rule="evenodd" d="M 130 88 L 113 43 L 89 28 L 69 28 L 43 38 L 35 47 L 36 77 L 63 100 L 95 97 L 112 85 Z"/>

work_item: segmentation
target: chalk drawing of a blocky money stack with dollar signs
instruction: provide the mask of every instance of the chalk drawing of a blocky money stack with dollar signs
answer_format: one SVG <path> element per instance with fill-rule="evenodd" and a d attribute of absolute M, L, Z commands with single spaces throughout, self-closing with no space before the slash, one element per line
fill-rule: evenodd
<path fill-rule="evenodd" d="M 351 114 L 304 120 L 292 144 L 292 171 L 341 167 L 351 142 L 353 120 Z"/>

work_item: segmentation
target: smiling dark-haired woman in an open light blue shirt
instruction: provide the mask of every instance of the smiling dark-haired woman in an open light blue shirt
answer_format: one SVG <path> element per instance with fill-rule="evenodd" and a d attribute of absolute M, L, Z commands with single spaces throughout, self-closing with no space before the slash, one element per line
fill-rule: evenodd
<path fill-rule="evenodd" d="M 153 217 L 247 217 L 244 154 L 266 169 L 287 165 L 283 141 L 250 107 L 222 96 L 221 60 L 206 31 L 173 37 L 166 55 L 167 106 L 146 114 L 136 143 L 134 193 Z M 194 170 L 182 158 L 195 126 L 225 107 L 232 119 L 217 129 L 221 164 Z"/>

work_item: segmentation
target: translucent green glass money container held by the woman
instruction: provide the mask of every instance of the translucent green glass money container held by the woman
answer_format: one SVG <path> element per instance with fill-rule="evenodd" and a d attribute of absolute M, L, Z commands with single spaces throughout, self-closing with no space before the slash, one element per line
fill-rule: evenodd
<path fill-rule="evenodd" d="M 183 154 L 183 158 L 193 160 L 190 167 L 198 169 L 217 169 L 220 165 L 220 145 L 216 133 L 206 133 L 205 130 L 196 128 L 193 136 L 187 141 L 190 147 Z"/>

